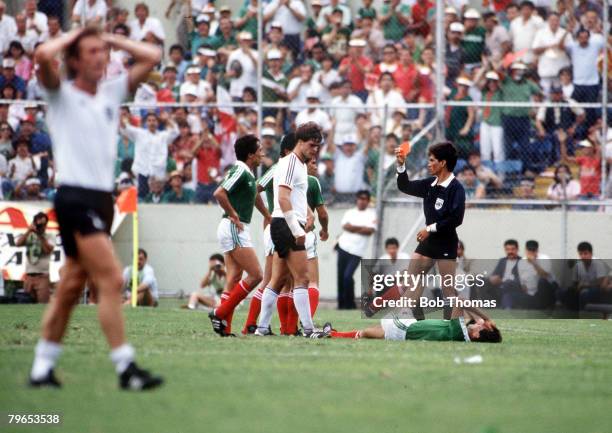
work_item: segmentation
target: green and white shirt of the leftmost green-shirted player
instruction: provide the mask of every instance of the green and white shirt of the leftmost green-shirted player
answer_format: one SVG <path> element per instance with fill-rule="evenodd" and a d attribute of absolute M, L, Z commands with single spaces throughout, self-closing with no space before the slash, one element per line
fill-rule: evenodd
<path fill-rule="evenodd" d="M 221 187 L 227 191 L 230 204 L 238 214 L 240 221 L 249 224 L 253 217 L 257 195 L 255 176 L 251 169 L 244 162 L 236 161 L 225 175 Z M 224 213 L 223 217 L 226 218 L 227 214 Z"/>

